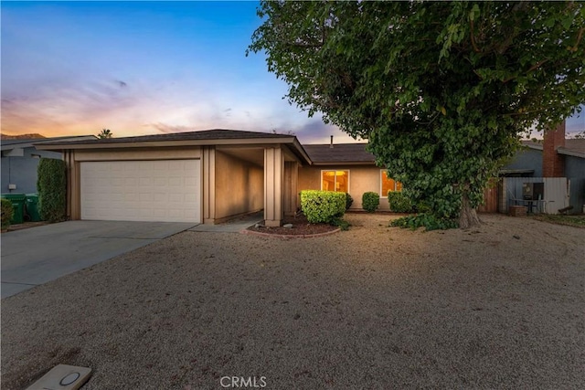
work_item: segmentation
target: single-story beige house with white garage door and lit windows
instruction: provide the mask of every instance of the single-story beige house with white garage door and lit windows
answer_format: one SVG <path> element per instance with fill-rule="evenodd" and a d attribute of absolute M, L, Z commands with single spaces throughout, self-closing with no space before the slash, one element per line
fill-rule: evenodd
<path fill-rule="evenodd" d="M 293 135 L 209 130 L 127 138 L 45 142 L 68 166 L 71 219 L 217 224 L 264 210 L 268 226 L 300 206 L 303 189 L 376 191 L 386 177 L 365 144 L 302 145 Z M 388 209 L 381 201 L 380 208 Z"/>

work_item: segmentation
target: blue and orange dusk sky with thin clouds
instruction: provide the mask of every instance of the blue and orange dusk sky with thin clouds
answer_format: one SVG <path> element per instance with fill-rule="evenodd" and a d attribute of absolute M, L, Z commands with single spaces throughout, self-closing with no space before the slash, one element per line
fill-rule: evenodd
<path fill-rule="evenodd" d="M 6 2 L 2 132 L 115 137 L 207 129 L 355 142 L 283 100 L 261 54 L 257 2 Z M 584 114 L 567 131 L 585 129 Z"/>

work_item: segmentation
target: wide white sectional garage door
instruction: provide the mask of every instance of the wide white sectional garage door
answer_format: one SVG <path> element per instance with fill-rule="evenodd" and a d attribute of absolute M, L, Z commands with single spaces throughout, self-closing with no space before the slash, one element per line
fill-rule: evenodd
<path fill-rule="evenodd" d="M 199 160 L 80 163 L 81 219 L 200 223 Z"/>

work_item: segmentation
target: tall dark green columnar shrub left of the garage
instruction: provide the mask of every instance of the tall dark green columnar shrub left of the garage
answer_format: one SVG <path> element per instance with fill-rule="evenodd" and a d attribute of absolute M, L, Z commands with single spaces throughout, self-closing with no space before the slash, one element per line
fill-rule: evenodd
<path fill-rule="evenodd" d="M 41 158 L 37 168 L 38 212 L 41 219 L 60 222 L 66 218 L 67 171 L 65 162 Z"/>

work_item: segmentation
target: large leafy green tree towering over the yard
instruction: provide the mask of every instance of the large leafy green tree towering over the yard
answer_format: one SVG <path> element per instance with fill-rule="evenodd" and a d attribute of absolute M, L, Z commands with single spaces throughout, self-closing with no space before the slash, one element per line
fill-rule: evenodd
<path fill-rule="evenodd" d="M 433 216 L 474 207 L 519 136 L 585 101 L 585 4 L 272 2 L 249 50 L 288 99 L 356 138 Z"/>

